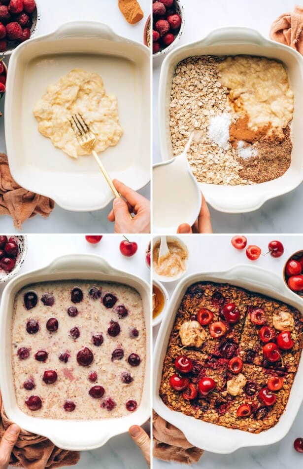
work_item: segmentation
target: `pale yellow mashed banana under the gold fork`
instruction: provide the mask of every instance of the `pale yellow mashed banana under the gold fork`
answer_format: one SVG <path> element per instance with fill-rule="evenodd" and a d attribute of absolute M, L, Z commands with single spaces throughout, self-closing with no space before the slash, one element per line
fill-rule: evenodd
<path fill-rule="evenodd" d="M 46 94 L 34 106 L 39 132 L 50 138 L 55 147 L 77 158 L 89 155 L 90 151 L 77 142 L 69 122 L 73 114 L 81 114 L 96 135 L 97 153 L 117 145 L 123 134 L 117 98 L 105 93 L 102 78 L 97 73 L 71 70 L 48 86 Z"/>

